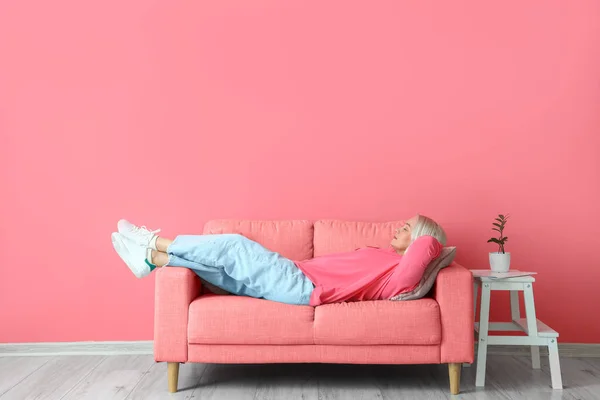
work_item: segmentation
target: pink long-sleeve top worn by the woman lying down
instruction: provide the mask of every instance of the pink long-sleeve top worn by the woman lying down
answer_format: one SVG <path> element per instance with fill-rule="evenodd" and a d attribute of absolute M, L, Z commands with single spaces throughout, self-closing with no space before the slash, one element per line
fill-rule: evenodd
<path fill-rule="evenodd" d="M 295 263 L 315 285 L 311 306 L 384 300 L 414 289 L 442 247 L 434 237 L 421 236 L 404 255 L 391 247 L 366 247 Z"/>

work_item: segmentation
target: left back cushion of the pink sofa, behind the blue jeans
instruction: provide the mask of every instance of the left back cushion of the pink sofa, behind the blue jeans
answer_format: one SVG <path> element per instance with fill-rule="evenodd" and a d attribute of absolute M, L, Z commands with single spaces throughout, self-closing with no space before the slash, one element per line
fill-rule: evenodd
<path fill-rule="evenodd" d="M 204 224 L 205 235 L 221 233 L 239 233 L 291 260 L 306 260 L 313 256 L 313 224 L 310 221 L 220 219 Z"/>

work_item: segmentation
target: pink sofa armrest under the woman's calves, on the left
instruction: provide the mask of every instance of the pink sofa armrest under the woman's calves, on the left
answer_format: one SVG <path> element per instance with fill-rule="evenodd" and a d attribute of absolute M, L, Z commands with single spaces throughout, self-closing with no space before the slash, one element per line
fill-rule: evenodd
<path fill-rule="evenodd" d="M 154 359 L 187 361 L 190 303 L 200 294 L 200 278 L 180 267 L 159 268 L 154 289 Z"/>

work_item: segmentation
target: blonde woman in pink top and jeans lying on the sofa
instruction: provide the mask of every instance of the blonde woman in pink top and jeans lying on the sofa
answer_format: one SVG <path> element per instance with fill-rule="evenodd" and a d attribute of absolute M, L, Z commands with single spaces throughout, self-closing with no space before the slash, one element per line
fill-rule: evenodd
<path fill-rule="evenodd" d="M 387 249 L 366 247 L 292 261 L 239 234 L 159 237 L 126 220 L 113 247 L 136 277 L 165 266 L 192 269 L 230 293 L 287 304 L 384 300 L 408 292 L 440 254 L 446 234 L 431 218 L 403 221 Z"/>

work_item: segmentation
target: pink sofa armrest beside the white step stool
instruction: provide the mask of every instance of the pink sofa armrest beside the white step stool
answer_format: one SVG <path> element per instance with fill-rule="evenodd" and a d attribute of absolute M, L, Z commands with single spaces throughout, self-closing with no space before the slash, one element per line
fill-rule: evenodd
<path fill-rule="evenodd" d="M 442 321 L 441 363 L 473 362 L 473 275 L 453 262 L 438 273 L 434 298 Z"/>

